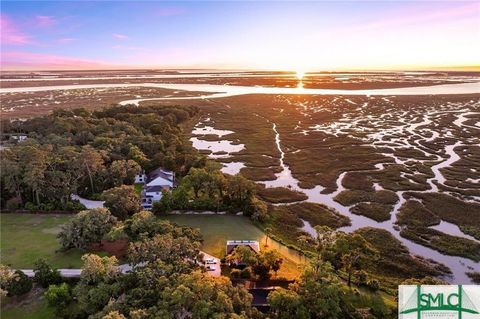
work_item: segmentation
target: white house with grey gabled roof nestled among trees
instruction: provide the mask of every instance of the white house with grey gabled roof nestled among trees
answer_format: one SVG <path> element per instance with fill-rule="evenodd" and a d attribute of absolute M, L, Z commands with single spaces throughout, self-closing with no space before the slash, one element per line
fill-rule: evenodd
<path fill-rule="evenodd" d="M 142 191 L 142 207 L 144 209 L 151 209 L 153 203 L 162 198 L 163 192 L 171 190 L 175 183 L 175 173 L 161 167 L 146 176 L 141 173 L 137 177 L 145 184 Z M 135 181 L 137 181 L 137 177 L 135 177 Z"/>

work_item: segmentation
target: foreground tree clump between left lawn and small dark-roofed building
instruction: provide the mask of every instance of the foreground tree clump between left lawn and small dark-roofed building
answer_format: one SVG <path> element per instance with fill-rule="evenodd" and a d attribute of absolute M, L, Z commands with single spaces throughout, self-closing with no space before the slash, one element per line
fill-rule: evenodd
<path fill-rule="evenodd" d="M 101 234 L 115 226 L 105 209 L 81 213 L 74 225 Z M 133 270 L 122 273 L 115 257 L 84 255 L 80 281 L 50 285 L 45 296 L 64 318 L 256 318 L 252 296 L 226 277 L 206 274 L 200 261 L 202 237 L 198 230 L 156 218 L 151 212 L 134 214 L 121 224 L 130 239 L 127 259 Z M 74 242 L 85 242 L 84 232 L 65 232 Z M 92 234 L 88 238 L 92 237 Z M 63 241 L 62 241 L 63 242 Z"/>

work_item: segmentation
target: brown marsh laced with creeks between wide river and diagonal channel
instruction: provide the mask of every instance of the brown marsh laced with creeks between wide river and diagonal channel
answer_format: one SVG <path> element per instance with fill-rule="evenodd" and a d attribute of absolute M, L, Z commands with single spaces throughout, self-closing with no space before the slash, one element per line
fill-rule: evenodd
<path fill-rule="evenodd" d="M 201 125 L 233 132 L 219 136 L 218 141 L 245 145 L 228 160 L 243 163 L 240 174 L 247 178 L 267 187 L 303 192 L 305 201 L 326 204 L 349 216 L 353 223 L 348 229 L 387 229 L 400 235 L 407 247 L 410 240 L 406 239 L 412 235 L 401 228 L 410 221 L 403 214 L 398 223 L 397 213 L 405 209 L 407 198 L 415 200 L 415 209 L 428 214 L 424 222 L 431 226 L 448 222 L 435 231 L 423 229 L 425 235 L 453 236 L 455 248 L 448 255 L 465 256 L 465 249 L 458 246 L 462 242 L 475 252 L 468 255 L 476 261 L 480 252 L 478 94 L 249 95 L 216 99 L 205 108 L 208 122 Z M 209 143 L 213 143 L 211 137 Z M 456 232 L 458 228 L 463 231 Z M 445 253 L 437 240 L 423 245 Z M 410 247 L 416 253 L 417 246 Z M 461 280 L 465 279 L 462 272 L 478 268 L 468 260 L 463 266 L 454 259 L 443 260 Z"/>

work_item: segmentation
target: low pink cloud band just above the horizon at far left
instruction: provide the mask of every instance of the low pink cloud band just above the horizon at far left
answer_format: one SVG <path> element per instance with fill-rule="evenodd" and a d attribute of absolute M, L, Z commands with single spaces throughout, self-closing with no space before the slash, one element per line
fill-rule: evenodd
<path fill-rule="evenodd" d="M 69 56 L 33 53 L 27 51 L 2 52 L 2 69 L 88 69 L 106 67 L 101 61 L 81 59 Z"/>

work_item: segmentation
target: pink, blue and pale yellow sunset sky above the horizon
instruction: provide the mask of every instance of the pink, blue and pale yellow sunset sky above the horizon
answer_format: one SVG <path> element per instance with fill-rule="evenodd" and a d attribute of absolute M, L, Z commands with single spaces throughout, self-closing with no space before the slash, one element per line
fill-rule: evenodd
<path fill-rule="evenodd" d="M 2 1 L 1 68 L 480 66 L 480 1 Z"/>

